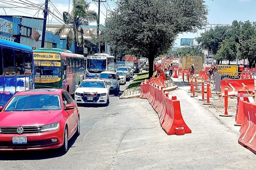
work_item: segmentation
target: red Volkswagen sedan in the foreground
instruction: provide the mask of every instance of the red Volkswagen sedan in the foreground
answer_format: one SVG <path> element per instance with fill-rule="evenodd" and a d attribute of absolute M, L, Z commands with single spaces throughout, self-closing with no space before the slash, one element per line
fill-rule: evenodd
<path fill-rule="evenodd" d="M 80 134 L 77 104 L 65 90 L 35 89 L 18 92 L 0 106 L 0 151 L 60 148 Z"/>

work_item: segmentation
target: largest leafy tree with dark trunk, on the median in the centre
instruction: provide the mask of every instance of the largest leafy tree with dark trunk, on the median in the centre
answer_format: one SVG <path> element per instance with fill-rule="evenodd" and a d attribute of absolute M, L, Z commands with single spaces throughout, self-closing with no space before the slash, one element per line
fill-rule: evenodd
<path fill-rule="evenodd" d="M 203 0 L 117 0 L 107 20 L 104 41 L 137 57 L 149 58 L 149 77 L 154 58 L 166 54 L 179 33 L 206 24 Z"/>

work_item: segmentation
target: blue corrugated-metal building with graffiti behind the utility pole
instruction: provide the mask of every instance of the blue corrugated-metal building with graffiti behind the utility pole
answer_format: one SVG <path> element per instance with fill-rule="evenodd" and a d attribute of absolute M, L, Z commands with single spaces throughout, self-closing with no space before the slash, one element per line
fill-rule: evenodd
<path fill-rule="evenodd" d="M 43 19 L 28 16 L 0 15 L 0 38 L 41 48 Z M 59 36 L 50 31 L 45 33 L 45 48 L 57 48 Z"/>

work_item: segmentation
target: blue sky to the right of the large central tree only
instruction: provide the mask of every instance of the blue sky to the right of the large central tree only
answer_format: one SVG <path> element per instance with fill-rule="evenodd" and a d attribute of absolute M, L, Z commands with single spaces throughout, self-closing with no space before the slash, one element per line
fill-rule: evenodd
<path fill-rule="evenodd" d="M 232 24 L 233 20 L 256 21 L 256 0 L 206 0 L 206 5 L 209 10 L 209 24 Z M 198 30 L 198 33 L 180 34 L 174 47 L 180 47 L 181 38 L 195 38 L 204 31 L 203 29 Z"/>

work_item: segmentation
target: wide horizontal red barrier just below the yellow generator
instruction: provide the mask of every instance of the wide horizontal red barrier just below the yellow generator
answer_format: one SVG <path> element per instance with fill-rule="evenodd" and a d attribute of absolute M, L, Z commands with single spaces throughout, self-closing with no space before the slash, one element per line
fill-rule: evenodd
<path fill-rule="evenodd" d="M 224 87 L 228 87 L 228 96 L 238 95 L 239 90 L 253 91 L 254 94 L 254 79 L 227 79 L 221 80 L 221 96 L 224 96 Z M 247 86 L 247 89 L 245 88 Z"/>

